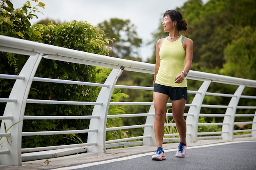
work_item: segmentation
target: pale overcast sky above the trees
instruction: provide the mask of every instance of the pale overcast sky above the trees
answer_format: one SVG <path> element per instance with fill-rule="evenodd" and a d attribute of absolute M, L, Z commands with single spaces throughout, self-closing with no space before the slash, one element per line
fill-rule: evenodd
<path fill-rule="evenodd" d="M 38 0 L 45 4 L 43 12 L 36 13 L 38 19 L 31 20 L 31 24 L 43 19 L 69 22 L 71 20 L 87 21 L 97 25 L 110 18 L 129 19 L 136 26 L 143 45 L 139 57 L 146 61 L 151 57 L 155 46 L 146 46 L 152 38 L 151 33 L 159 26 L 159 19 L 168 9 L 182 7 L 188 0 Z M 208 0 L 203 0 L 207 2 Z M 20 8 L 27 0 L 12 0 L 14 8 Z M 31 4 L 34 6 L 36 3 Z"/>

